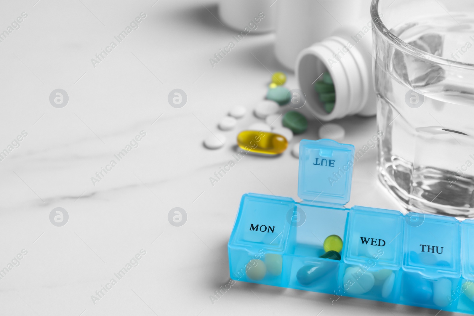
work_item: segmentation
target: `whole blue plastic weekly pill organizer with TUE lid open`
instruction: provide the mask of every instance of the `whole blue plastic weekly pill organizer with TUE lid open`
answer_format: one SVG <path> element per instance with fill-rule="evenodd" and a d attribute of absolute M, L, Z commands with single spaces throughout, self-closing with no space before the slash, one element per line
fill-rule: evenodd
<path fill-rule="evenodd" d="M 354 206 L 354 146 L 302 140 L 298 196 L 244 194 L 228 243 L 233 280 L 474 314 L 474 221 Z M 320 258 L 329 235 L 340 260 Z"/>

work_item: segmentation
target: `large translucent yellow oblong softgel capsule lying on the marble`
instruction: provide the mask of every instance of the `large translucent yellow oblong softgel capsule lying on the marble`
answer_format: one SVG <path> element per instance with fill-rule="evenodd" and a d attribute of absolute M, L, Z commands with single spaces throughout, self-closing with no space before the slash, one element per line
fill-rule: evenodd
<path fill-rule="evenodd" d="M 240 148 L 252 153 L 276 155 L 283 153 L 288 147 L 288 141 L 280 134 L 264 131 L 243 131 L 237 135 Z"/>

